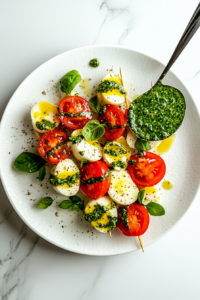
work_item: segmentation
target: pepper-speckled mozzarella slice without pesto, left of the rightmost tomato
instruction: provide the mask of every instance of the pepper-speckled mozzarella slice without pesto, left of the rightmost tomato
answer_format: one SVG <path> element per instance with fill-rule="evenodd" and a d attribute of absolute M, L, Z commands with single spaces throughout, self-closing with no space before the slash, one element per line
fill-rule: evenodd
<path fill-rule="evenodd" d="M 108 195 L 121 205 L 129 205 L 137 200 L 139 190 L 126 171 L 112 171 Z"/>

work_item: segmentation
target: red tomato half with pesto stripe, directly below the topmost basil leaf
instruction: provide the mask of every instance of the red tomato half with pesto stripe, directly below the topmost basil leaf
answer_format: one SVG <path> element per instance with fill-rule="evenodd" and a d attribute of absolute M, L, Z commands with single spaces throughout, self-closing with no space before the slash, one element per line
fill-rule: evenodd
<path fill-rule="evenodd" d="M 63 98 L 59 102 L 58 108 L 60 121 L 71 129 L 82 129 L 85 124 L 92 119 L 92 109 L 90 108 L 88 101 L 79 96 L 68 96 Z M 87 115 L 68 115 L 80 113 L 87 113 Z"/>

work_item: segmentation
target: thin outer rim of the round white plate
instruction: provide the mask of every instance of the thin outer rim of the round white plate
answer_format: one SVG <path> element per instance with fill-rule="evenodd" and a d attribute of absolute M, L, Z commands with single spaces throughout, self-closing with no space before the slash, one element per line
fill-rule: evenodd
<path fill-rule="evenodd" d="M 14 93 L 12 94 L 11 98 L 9 99 L 9 101 L 8 101 L 8 103 L 7 103 L 7 105 L 6 105 L 5 109 L 4 109 L 4 111 L 3 111 L 3 115 L 2 115 L 2 118 L 1 118 L 1 124 L 0 124 L 0 137 L 1 137 L 1 132 L 2 132 L 2 124 L 3 124 L 4 119 L 5 119 L 5 113 L 6 113 L 6 111 L 7 111 L 8 108 L 9 108 L 9 105 L 10 105 L 10 103 L 11 103 L 12 98 L 15 97 L 15 94 L 18 92 L 18 90 L 20 89 L 21 85 L 24 84 L 24 83 L 26 82 L 26 80 L 28 80 L 28 78 L 29 78 L 33 73 L 37 72 L 37 70 L 38 70 L 39 68 L 41 68 L 43 65 L 48 64 L 51 60 L 53 60 L 53 59 L 55 59 L 55 58 L 57 58 L 57 57 L 59 57 L 59 56 L 62 56 L 62 55 L 63 55 L 64 53 L 66 53 L 66 52 L 73 52 L 73 51 L 76 50 L 76 49 L 101 48 L 101 47 L 102 47 L 102 48 L 118 48 L 118 49 L 129 50 L 129 51 L 132 51 L 132 52 L 135 52 L 135 53 L 138 53 L 138 54 L 142 54 L 142 55 L 146 56 L 147 58 L 150 58 L 150 59 L 154 60 L 155 62 L 157 62 L 157 63 L 159 63 L 159 64 L 165 66 L 165 64 L 164 64 L 162 61 L 158 60 L 157 58 L 155 58 L 155 57 L 153 57 L 153 56 L 151 56 L 151 55 L 149 55 L 149 54 L 147 54 L 146 52 L 140 51 L 140 50 L 138 50 L 138 49 L 136 49 L 136 48 L 132 48 L 132 47 L 124 47 L 124 46 L 121 46 L 121 45 L 110 45 L 110 44 L 86 45 L 86 46 L 75 47 L 75 48 L 72 48 L 72 49 L 70 49 L 70 50 L 66 50 L 66 51 L 64 51 L 64 52 L 62 52 L 62 53 L 59 53 L 59 54 L 57 54 L 57 55 L 51 57 L 50 59 L 46 60 L 44 63 L 42 63 L 41 65 L 39 65 L 37 68 L 35 68 L 31 73 L 29 73 L 29 75 L 25 77 L 25 79 L 20 83 L 20 85 L 19 85 L 19 86 L 17 87 L 17 89 L 14 91 Z M 198 114 L 198 117 L 199 117 L 199 119 L 200 119 L 200 111 L 199 111 L 199 109 L 198 109 L 198 107 L 197 107 L 196 102 L 194 101 L 194 97 L 193 97 L 192 92 L 191 92 L 190 89 L 187 87 L 187 84 L 184 82 L 184 80 L 183 80 L 182 78 L 179 77 L 179 75 L 177 75 L 176 72 L 171 71 L 171 70 L 170 70 L 170 72 L 171 72 L 171 73 L 172 73 L 172 74 L 180 81 L 180 83 L 181 83 L 181 84 L 184 86 L 184 88 L 186 89 L 187 93 L 189 94 L 189 96 L 190 96 L 191 99 L 192 99 L 193 105 L 194 105 L 195 110 L 196 110 L 196 112 L 197 112 L 197 114 Z M 28 221 L 24 218 L 23 215 L 20 214 L 20 212 L 19 212 L 18 209 L 17 209 L 17 206 L 15 205 L 15 202 L 12 200 L 12 198 L 11 198 L 10 195 L 9 195 L 9 191 L 8 191 L 8 189 L 7 189 L 7 187 L 6 187 L 6 184 L 5 184 L 5 182 L 4 182 L 4 178 L 3 178 L 2 174 L 3 174 L 3 172 L 2 172 L 2 167 L 1 167 L 1 164 L 0 164 L 0 179 L 1 179 L 1 182 L 2 182 L 2 185 L 3 185 L 3 188 L 4 188 L 4 191 L 5 191 L 5 194 L 6 194 L 7 198 L 8 198 L 8 200 L 9 200 L 10 204 L 12 205 L 13 209 L 14 209 L 15 212 L 17 213 L 17 215 L 20 217 L 20 219 L 21 219 L 21 220 L 22 220 L 22 221 L 23 221 L 23 222 L 24 222 L 24 223 L 25 223 L 25 224 L 26 224 L 33 232 L 35 232 L 38 236 L 42 237 L 44 240 L 46 240 L 47 242 L 51 243 L 52 245 L 55 245 L 55 246 L 57 246 L 57 247 L 59 247 L 59 248 L 61 248 L 61 249 L 63 249 L 63 250 L 67 250 L 67 251 L 70 251 L 70 252 L 73 252 L 73 253 L 76 253 L 76 254 L 82 254 L 82 255 L 88 255 L 88 256 L 116 256 L 116 255 L 127 254 L 127 253 L 131 253 L 131 252 L 135 252 L 135 251 L 140 250 L 140 248 L 137 248 L 137 249 L 135 249 L 135 250 L 130 250 L 130 251 L 126 251 L 126 252 L 120 252 L 120 253 L 91 254 L 91 253 L 89 253 L 89 252 L 87 252 L 87 251 L 86 251 L 86 252 L 76 251 L 76 250 L 71 249 L 70 247 L 66 248 L 66 247 L 64 247 L 64 246 L 59 245 L 57 242 L 54 242 L 54 241 L 50 240 L 49 238 L 45 237 L 42 233 L 40 233 L 37 229 L 35 229 L 31 224 L 29 224 Z M 147 246 L 145 246 L 145 248 L 148 247 L 148 246 L 150 246 L 150 245 L 152 245 L 153 243 L 157 242 L 157 241 L 160 240 L 161 238 L 163 238 L 163 237 L 164 237 L 166 234 L 168 234 L 173 228 L 175 228 L 175 226 L 177 226 L 177 224 L 183 219 L 183 217 L 185 217 L 186 213 L 188 213 L 188 211 L 189 211 L 189 209 L 191 208 L 192 204 L 194 204 L 194 201 L 195 201 L 195 199 L 196 199 L 196 196 L 197 196 L 199 190 L 200 190 L 200 183 L 199 183 L 199 185 L 198 185 L 198 188 L 197 188 L 197 190 L 196 190 L 196 192 L 195 192 L 195 195 L 194 195 L 194 197 L 193 197 L 191 203 L 189 204 L 187 210 L 186 210 L 186 211 L 183 213 L 183 215 L 178 219 L 178 221 L 177 221 L 171 228 L 169 228 L 162 236 L 156 238 L 154 241 L 152 241 L 152 242 L 149 243 Z"/>

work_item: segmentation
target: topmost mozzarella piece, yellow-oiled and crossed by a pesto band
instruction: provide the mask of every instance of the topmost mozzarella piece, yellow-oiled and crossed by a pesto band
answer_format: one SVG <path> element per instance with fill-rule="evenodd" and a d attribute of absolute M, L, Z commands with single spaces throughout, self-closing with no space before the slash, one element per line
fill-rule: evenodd
<path fill-rule="evenodd" d="M 105 80 L 115 81 L 119 84 L 122 84 L 121 78 L 119 77 L 119 75 L 115 73 L 108 74 L 106 77 L 104 77 L 102 82 Z M 125 95 L 121 94 L 118 89 L 113 89 L 106 93 L 98 92 L 97 97 L 101 105 L 105 105 L 105 104 L 120 105 L 125 101 Z"/>

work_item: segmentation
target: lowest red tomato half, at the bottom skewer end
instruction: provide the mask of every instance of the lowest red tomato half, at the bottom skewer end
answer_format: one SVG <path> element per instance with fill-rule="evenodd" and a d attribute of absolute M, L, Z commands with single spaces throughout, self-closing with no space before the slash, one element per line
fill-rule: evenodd
<path fill-rule="evenodd" d="M 125 209 L 125 206 L 122 206 Z M 149 214 L 146 208 L 137 203 L 132 203 L 129 205 L 128 209 L 128 224 L 126 225 L 124 221 L 120 218 L 122 213 L 118 214 L 117 229 L 126 236 L 139 236 L 145 233 L 149 227 Z"/>

